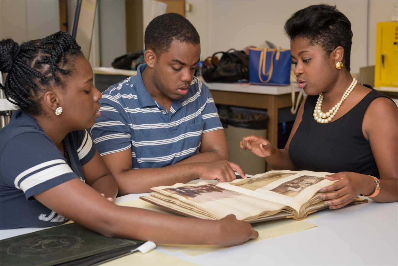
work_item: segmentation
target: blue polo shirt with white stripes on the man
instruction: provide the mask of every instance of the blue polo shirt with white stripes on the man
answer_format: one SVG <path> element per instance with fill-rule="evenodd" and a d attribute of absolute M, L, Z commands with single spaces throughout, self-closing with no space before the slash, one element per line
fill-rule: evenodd
<path fill-rule="evenodd" d="M 222 129 L 209 88 L 194 77 L 170 112 L 148 93 L 137 75 L 102 93 L 101 116 L 91 128 L 100 154 L 131 149 L 133 169 L 164 167 L 199 153 L 202 134 Z"/>

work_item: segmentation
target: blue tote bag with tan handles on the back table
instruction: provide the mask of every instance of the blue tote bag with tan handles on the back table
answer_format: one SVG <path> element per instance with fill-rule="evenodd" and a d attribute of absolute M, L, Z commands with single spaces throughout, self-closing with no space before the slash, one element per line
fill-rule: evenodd
<path fill-rule="evenodd" d="M 290 85 L 292 59 L 289 49 L 250 48 L 249 82 Z"/>

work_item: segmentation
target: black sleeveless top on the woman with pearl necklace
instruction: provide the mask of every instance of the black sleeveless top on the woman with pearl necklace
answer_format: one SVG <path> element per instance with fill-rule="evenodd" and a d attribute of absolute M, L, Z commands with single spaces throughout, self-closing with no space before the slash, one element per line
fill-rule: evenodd
<path fill-rule="evenodd" d="M 371 92 L 356 106 L 326 124 L 314 120 L 318 96 L 308 95 L 302 121 L 289 145 L 289 156 L 296 166 L 310 171 L 348 171 L 379 177 L 370 143 L 362 133 L 362 121 L 373 100 L 388 97 L 367 87 L 372 89 Z"/>

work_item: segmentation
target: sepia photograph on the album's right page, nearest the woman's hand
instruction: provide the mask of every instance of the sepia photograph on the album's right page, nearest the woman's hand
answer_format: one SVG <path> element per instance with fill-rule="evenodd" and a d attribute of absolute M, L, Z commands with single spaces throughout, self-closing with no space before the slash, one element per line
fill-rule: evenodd
<path fill-rule="evenodd" d="M 288 182 L 282 183 L 270 191 L 294 198 L 304 188 L 314 185 L 324 179 L 324 177 L 318 176 L 300 176 Z"/>

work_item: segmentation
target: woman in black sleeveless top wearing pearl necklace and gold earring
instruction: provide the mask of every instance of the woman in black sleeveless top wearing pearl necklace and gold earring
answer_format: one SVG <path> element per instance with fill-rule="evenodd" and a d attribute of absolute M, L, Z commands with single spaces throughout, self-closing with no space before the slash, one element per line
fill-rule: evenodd
<path fill-rule="evenodd" d="M 314 5 L 287 20 L 292 63 L 308 95 L 285 149 L 259 136 L 241 149 L 264 157 L 275 170 L 333 172 L 322 188 L 325 204 L 343 207 L 359 194 L 397 201 L 397 106 L 350 74 L 351 23 L 336 7 Z"/>

